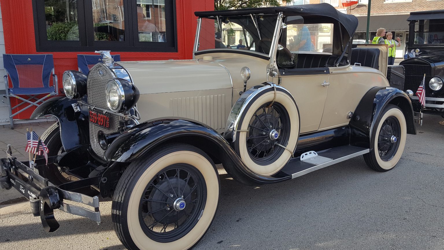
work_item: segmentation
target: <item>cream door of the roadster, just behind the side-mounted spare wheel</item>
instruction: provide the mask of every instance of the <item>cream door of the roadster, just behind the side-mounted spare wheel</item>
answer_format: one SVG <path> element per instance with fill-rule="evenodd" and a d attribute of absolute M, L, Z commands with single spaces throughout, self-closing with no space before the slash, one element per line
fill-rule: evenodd
<path fill-rule="evenodd" d="M 281 76 L 281 86 L 287 89 L 296 100 L 301 117 L 300 133 L 319 129 L 327 95 L 327 88 L 321 84 L 328 81 L 328 78 L 327 74 Z"/>

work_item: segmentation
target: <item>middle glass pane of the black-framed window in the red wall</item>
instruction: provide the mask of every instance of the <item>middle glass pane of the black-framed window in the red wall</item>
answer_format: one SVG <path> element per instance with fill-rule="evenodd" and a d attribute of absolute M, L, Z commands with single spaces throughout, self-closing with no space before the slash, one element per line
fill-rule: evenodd
<path fill-rule="evenodd" d="M 123 0 L 92 0 L 94 40 L 124 41 Z"/>

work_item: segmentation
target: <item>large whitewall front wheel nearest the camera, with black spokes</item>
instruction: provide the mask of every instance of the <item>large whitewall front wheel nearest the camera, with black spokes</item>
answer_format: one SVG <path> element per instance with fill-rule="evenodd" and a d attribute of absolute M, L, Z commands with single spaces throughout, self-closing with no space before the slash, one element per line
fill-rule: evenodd
<path fill-rule="evenodd" d="M 130 250 L 187 250 L 214 219 L 219 177 L 202 150 L 166 145 L 132 162 L 116 187 L 112 220 Z"/>

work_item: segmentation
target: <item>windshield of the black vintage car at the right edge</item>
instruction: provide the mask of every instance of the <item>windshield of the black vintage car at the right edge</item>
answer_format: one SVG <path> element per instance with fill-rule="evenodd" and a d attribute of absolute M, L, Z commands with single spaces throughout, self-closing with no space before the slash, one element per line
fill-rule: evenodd
<path fill-rule="evenodd" d="M 419 20 L 414 44 L 444 44 L 444 19 Z"/>

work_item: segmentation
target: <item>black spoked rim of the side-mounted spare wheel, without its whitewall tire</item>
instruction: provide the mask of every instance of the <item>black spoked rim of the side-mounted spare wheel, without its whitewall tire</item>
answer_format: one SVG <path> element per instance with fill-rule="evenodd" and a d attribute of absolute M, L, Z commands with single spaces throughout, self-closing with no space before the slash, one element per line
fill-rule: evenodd
<path fill-rule="evenodd" d="M 280 103 L 265 103 L 251 117 L 246 134 L 251 159 L 260 165 L 272 164 L 281 156 L 290 136 L 290 118 Z"/>

